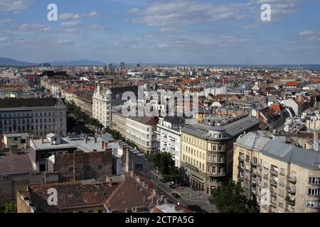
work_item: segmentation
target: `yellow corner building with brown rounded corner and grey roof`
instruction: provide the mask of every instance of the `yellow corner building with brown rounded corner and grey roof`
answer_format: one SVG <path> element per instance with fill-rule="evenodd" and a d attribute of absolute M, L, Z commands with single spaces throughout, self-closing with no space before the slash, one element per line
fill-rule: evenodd
<path fill-rule="evenodd" d="M 210 194 L 232 176 L 233 143 L 245 131 L 256 130 L 255 118 L 235 118 L 231 123 L 202 123 L 181 128 L 181 167 L 193 187 Z"/>

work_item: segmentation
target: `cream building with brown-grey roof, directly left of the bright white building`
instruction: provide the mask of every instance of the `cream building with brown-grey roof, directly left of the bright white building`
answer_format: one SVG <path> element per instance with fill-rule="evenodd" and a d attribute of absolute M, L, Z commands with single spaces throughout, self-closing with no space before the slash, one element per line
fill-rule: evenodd
<path fill-rule="evenodd" d="M 135 143 L 143 153 L 154 153 L 156 148 L 156 125 L 159 118 L 148 116 L 130 116 L 126 119 L 126 138 Z"/>

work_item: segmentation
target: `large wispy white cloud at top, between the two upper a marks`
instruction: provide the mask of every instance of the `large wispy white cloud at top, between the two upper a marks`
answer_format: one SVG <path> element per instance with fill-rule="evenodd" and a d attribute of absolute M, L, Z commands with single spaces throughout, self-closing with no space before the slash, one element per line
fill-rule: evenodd
<path fill-rule="evenodd" d="M 137 11 L 140 18 L 135 18 L 132 22 L 168 28 L 196 23 L 235 21 L 244 18 L 243 10 L 245 6 L 247 4 L 208 4 L 194 0 L 155 0 L 143 11 L 134 10 Z"/>

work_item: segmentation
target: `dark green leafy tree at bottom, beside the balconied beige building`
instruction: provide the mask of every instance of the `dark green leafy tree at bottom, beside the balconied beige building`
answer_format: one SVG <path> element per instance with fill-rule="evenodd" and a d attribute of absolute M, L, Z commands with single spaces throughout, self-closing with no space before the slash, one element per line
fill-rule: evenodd
<path fill-rule="evenodd" d="M 227 185 L 213 189 L 209 201 L 222 213 L 248 212 L 247 199 L 243 195 L 241 184 L 233 182 L 232 179 Z"/>

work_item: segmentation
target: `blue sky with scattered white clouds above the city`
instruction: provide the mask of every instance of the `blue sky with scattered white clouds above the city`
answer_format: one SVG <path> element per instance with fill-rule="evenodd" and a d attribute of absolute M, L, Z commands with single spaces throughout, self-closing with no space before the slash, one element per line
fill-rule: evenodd
<path fill-rule="evenodd" d="M 320 0 L 0 0 L 0 57 L 320 64 Z"/>

